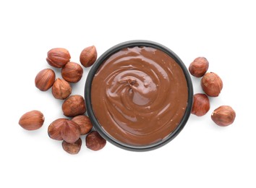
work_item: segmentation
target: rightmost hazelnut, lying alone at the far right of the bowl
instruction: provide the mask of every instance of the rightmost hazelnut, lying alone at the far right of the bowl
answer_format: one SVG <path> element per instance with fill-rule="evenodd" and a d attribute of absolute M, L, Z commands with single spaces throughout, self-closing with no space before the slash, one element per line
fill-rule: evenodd
<path fill-rule="evenodd" d="M 220 106 L 213 111 L 211 118 L 219 126 L 225 127 L 234 122 L 236 112 L 231 106 Z"/>

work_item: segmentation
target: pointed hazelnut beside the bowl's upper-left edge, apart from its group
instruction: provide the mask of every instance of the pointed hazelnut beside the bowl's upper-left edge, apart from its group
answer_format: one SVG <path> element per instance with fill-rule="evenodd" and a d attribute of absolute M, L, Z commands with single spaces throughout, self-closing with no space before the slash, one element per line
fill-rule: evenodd
<path fill-rule="evenodd" d="M 89 46 L 82 50 L 80 54 L 80 62 L 84 67 L 90 67 L 97 59 L 97 51 L 95 46 Z"/>

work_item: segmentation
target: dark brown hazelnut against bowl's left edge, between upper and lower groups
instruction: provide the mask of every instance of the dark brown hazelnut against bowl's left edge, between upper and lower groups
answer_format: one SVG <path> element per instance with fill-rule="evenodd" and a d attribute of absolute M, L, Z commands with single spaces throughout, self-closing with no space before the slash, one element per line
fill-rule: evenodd
<path fill-rule="evenodd" d="M 62 111 L 65 116 L 74 117 L 85 114 L 85 100 L 81 95 L 71 95 L 62 104 Z"/>

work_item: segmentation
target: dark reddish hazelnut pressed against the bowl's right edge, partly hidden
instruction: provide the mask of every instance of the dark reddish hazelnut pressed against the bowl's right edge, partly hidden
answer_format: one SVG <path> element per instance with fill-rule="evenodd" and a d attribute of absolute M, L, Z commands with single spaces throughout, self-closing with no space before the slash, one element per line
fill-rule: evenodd
<path fill-rule="evenodd" d="M 203 116 L 210 110 L 210 101 L 207 95 L 197 93 L 194 95 L 194 102 L 192 106 L 192 114 L 196 116 Z"/>

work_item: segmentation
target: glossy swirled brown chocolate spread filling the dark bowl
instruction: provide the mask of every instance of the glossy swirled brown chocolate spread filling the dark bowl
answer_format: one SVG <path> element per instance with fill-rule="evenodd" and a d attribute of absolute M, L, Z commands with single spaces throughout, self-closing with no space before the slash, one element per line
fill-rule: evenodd
<path fill-rule="evenodd" d="M 150 47 L 124 48 L 110 56 L 91 87 L 96 119 L 111 137 L 129 145 L 150 145 L 173 132 L 187 98 L 182 68 Z"/>

